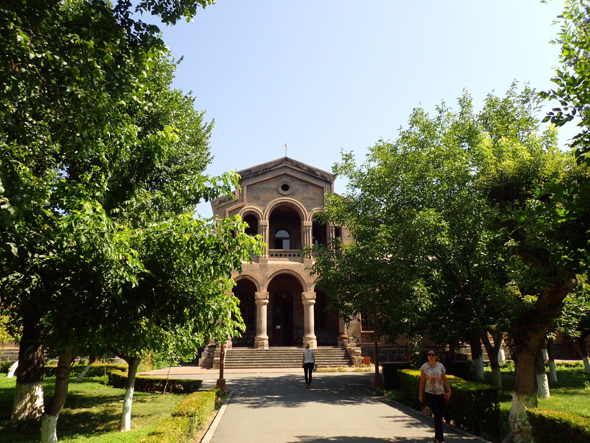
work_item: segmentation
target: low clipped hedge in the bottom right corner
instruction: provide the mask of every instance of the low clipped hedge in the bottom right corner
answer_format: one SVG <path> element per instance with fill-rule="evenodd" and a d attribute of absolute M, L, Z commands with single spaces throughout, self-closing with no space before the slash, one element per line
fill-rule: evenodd
<path fill-rule="evenodd" d="M 527 409 L 535 441 L 563 441 L 588 443 L 590 441 L 590 419 L 565 412 Z"/>

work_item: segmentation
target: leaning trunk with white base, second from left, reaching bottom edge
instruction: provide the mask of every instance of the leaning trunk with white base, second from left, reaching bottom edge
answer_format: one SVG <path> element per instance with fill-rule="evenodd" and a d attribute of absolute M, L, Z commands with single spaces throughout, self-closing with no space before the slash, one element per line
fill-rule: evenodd
<path fill-rule="evenodd" d="M 41 443 L 57 442 L 57 418 L 68 396 L 73 346 L 69 346 L 57 361 L 55 391 L 41 418 Z"/>

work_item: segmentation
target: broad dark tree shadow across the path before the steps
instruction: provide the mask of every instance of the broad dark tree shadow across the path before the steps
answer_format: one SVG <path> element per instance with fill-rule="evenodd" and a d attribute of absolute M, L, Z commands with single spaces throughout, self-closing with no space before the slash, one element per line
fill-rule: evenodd
<path fill-rule="evenodd" d="M 313 389 L 304 389 L 303 376 L 297 374 L 236 379 L 230 385 L 235 392 L 231 402 L 251 408 L 296 408 L 307 402 L 358 405 L 379 401 L 377 397 L 368 395 L 366 389 L 360 389 L 371 386 L 371 377 L 356 374 L 314 377 L 312 385 Z"/>

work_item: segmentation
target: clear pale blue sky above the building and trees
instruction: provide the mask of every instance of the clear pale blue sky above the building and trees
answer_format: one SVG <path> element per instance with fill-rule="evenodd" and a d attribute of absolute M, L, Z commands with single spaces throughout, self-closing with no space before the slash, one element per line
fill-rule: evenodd
<path fill-rule="evenodd" d="M 562 6 L 218 0 L 163 32 L 184 56 L 174 86 L 215 119 L 208 173 L 283 157 L 285 142 L 289 157 L 330 171 L 341 149 L 362 156 L 379 137 L 395 139 L 415 106 L 453 107 L 466 88 L 478 109 L 514 79 L 550 87 Z M 208 203 L 198 211 L 211 216 Z"/>

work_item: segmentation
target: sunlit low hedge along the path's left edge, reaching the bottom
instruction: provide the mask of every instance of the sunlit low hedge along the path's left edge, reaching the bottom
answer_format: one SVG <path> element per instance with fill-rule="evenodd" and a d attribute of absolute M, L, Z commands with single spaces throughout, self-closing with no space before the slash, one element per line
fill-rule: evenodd
<path fill-rule="evenodd" d="M 195 392 L 172 409 L 172 416 L 142 439 L 142 443 L 192 442 L 215 411 L 215 391 Z"/>

